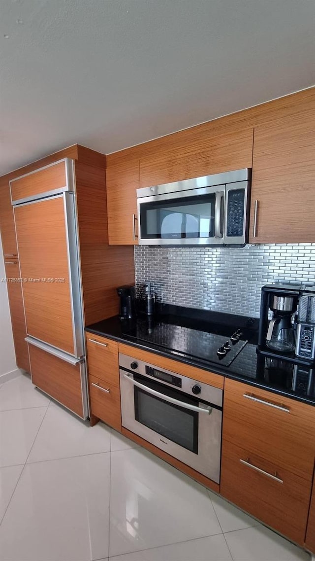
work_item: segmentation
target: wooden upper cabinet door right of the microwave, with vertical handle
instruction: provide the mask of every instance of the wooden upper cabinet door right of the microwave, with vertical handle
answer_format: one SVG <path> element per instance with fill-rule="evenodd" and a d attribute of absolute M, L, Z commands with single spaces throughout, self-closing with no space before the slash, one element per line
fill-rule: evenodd
<path fill-rule="evenodd" d="M 314 151 L 309 114 L 255 128 L 249 242 L 315 241 Z"/>

